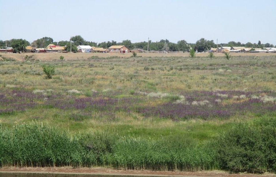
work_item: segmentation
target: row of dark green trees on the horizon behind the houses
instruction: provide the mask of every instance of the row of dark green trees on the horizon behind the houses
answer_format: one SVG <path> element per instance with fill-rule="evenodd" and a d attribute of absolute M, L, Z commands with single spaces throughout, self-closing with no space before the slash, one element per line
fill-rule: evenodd
<path fill-rule="evenodd" d="M 94 41 L 86 41 L 82 36 L 76 35 L 71 37 L 72 41 L 72 51 L 77 50 L 78 45 L 90 45 L 91 47 L 103 47 L 108 48 L 112 45 L 125 45 L 128 49 L 143 49 L 147 50 L 149 47 L 150 51 L 190 51 L 190 49 L 194 49 L 198 52 L 203 52 L 206 50 L 210 50 L 211 48 L 216 48 L 217 44 L 214 43 L 213 40 L 209 41 L 204 38 L 199 39 L 196 43 L 187 43 L 185 40 L 180 40 L 177 43 L 170 42 L 168 39 L 161 39 L 160 41 L 153 42 L 151 40 L 132 43 L 130 40 L 123 40 L 122 42 L 117 41 L 105 41 L 101 43 L 96 43 Z M 60 46 L 67 46 L 65 50 L 70 51 L 70 39 L 69 41 L 53 41 L 51 37 L 43 37 L 29 43 L 25 39 L 11 39 L 2 41 L 0 40 L 0 48 L 5 49 L 6 47 L 13 47 L 15 52 L 24 51 L 25 47 L 31 45 L 32 47 L 37 48 L 45 48 L 49 44 L 60 45 Z M 261 41 L 258 43 L 251 43 L 248 42 L 243 44 L 241 42 L 230 41 L 229 43 L 220 43 L 218 47 L 252 47 L 252 48 L 264 48 L 264 47 L 276 47 L 273 44 L 265 43 L 262 44 Z"/>

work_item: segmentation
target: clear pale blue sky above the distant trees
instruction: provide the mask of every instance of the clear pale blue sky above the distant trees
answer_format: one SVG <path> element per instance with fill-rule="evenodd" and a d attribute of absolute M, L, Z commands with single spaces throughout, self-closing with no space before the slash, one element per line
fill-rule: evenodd
<path fill-rule="evenodd" d="M 81 35 L 99 43 L 149 37 L 276 45 L 275 0 L 9 0 L 0 7 L 0 40 Z"/>

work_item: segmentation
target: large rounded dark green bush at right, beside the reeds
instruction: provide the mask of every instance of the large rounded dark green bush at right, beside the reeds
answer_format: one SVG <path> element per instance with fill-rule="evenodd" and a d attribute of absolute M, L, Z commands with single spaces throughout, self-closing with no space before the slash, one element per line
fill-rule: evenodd
<path fill-rule="evenodd" d="M 276 120 L 238 124 L 217 142 L 218 161 L 230 172 L 276 172 Z"/>

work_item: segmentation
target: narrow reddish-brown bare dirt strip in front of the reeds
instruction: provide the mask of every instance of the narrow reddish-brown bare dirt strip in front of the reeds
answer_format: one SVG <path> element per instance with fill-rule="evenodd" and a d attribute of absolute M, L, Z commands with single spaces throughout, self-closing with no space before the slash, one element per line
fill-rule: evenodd
<path fill-rule="evenodd" d="M 0 168 L 1 172 L 39 172 L 39 173 L 68 173 L 68 174 L 117 174 L 117 175 L 164 175 L 164 176 L 221 176 L 221 177 L 271 177 L 276 174 L 229 174 L 223 171 L 198 171 L 198 172 L 181 172 L 181 171 L 150 171 L 150 170 L 115 170 L 111 168 L 71 168 L 71 167 L 46 167 L 46 168 L 17 168 L 17 167 L 3 167 Z"/>

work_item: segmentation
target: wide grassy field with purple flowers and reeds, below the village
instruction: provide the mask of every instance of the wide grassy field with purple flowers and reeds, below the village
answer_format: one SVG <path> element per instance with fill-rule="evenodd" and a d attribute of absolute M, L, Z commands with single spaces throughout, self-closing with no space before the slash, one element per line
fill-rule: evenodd
<path fill-rule="evenodd" d="M 1 54 L 0 165 L 275 171 L 265 164 L 276 158 L 257 153 L 271 143 L 238 161 L 217 141 L 231 144 L 225 137 L 241 134 L 241 124 L 257 132 L 261 120 L 275 131 L 275 54 L 62 55 Z M 52 79 L 42 64 L 55 66 Z M 252 165 L 261 157 L 270 161 Z"/>

